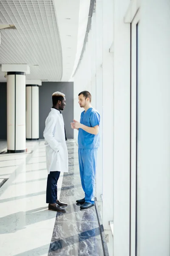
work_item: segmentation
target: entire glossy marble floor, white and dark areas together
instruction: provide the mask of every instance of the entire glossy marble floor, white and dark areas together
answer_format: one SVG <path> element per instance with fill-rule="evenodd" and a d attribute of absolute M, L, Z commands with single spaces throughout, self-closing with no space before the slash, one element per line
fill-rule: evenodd
<path fill-rule="evenodd" d="M 27 142 L 27 153 L 0 154 L 0 256 L 104 256 L 95 207 L 80 210 L 83 197 L 78 148 L 67 142 L 69 172 L 60 175 L 58 196 L 65 213 L 45 203 L 46 163 L 43 141 Z M 0 151 L 6 142 L 0 141 Z M 105 247 L 105 246 L 104 246 Z"/>

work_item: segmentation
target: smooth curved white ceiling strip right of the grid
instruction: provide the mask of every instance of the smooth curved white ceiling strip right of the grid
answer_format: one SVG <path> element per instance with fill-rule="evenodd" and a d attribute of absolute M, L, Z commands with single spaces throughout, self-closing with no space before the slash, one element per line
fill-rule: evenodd
<path fill-rule="evenodd" d="M 91 0 L 54 0 L 53 2 L 62 46 L 61 81 L 68 81 L 73 76 L 81 56 Z"/>

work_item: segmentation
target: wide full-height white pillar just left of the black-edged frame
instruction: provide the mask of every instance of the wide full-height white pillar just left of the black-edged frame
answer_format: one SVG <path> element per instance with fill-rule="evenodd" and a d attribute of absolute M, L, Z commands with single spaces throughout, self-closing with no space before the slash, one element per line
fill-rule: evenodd
<path fill-rule="evenodd" d="M 130 24 L 124 23 L 129 3 L 129 0 L 114 0 L 113 252 L 115 256 L 130 255 Z"/>

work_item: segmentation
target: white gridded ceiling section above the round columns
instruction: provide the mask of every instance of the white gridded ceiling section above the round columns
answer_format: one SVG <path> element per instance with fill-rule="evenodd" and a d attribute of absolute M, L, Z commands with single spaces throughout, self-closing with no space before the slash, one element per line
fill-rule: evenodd
<path fill-rule="evenodd" d="M 26 79 L 60 81 L 62 48 L 53 0 L 1 0 L 0 64 L 28 64 Z M 4 73 L 0 72 L 0 81 Z"/>

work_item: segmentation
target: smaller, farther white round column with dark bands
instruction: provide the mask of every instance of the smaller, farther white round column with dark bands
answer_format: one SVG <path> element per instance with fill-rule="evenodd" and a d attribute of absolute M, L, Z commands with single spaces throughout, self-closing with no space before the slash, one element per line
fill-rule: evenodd
<path fill-rule="evenodd" d="M 39 86 L 26 84 L 26 140 L 39 139 Z"/>

